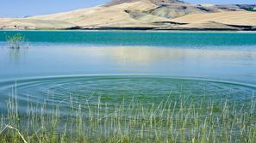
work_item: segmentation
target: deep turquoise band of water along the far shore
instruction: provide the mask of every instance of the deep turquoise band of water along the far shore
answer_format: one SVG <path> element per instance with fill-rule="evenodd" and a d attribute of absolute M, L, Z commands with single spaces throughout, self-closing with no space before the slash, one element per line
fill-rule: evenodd
<path fill-rule="evenodd" d="M 2 31 L 0 41 L 6 35 L 22 33 L 34 43 L 82 44 L 82 45 L 145 45 L 164 47 L 203 47 L 255 45 L 256 33 L 168 33 L 127 31 Z"/>

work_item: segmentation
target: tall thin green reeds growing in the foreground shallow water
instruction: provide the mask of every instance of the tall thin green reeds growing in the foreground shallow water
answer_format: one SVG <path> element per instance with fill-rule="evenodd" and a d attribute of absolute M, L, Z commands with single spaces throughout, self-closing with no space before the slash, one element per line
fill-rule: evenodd
<path fill-rule="evenodd" d="M 16 94 L 9 98 L 0 123 L 0 142 L 256 142 L 255 99 L 234 103 L 170 96 L 159 103 L 136 98 L 107 104 L 97 97 L 67 107 L 31 104 L 19 111 Z"/>

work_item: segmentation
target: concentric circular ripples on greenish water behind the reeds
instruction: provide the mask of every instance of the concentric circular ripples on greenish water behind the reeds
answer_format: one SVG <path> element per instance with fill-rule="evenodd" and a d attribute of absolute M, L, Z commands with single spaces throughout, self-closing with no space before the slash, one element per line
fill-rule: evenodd
<path fill-rule="evenodd" d="M 146 76 L 70 76 L 26 80 L 11 80 L 0 83 L 0 108 L 5 109 L 9 97 L 19 100 L 19 109 L 27 104 L 48 102 L 68 106 L 72 98 L 76 104 L 116 104 L 138 100 L 143 104 L 159 103 L 166 97 L 181 96 L 209 98 L 218 102 L 223 98 L 246 103 L 253 96 L 255 87 L 212 80 L 191 80 Z M 198 101 L 199 102 L 199 101 Z M 128 102 L 127 102 L 128 103 Z"/>

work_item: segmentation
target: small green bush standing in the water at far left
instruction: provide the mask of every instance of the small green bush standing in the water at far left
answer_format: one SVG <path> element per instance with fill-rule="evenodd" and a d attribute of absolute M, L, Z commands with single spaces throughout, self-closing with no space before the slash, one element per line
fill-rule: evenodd
<path fill-rule="evenodd" d="M 22 33 L 16 33 L 12 36 L 6 36 L 6 41 L 8 42 L 9 48 L 20 49 L 28 48 L 28 40 Z"/>

